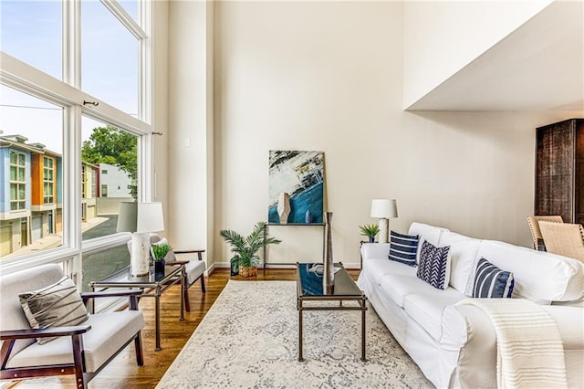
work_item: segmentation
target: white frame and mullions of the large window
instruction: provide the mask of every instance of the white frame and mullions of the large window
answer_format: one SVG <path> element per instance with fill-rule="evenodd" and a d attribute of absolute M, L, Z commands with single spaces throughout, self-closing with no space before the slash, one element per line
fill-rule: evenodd
<path fill-rule="evenodd" d="M 68 272 L 81 285 L 83 254 L 120 245 L 130 238 L 129 233 L 113 234 L 86 241 L 81 239 L 81 117 L 115 126 L 138 137 L 138 201 L 150 201 L 153 193 L 151 163 L 151 4 L 142 0 L 139 5 L 140 24 L 132 19 L 115 0 L 101 0 L 123 26 L 139 38 L 139 110 L 132 117 L 84 92 L 80 87 L 80 6 L 81 0 L 62 1 L 63 9 L 63 78 L 47 73 L 0 51 L 0 83 L 7 87 L 46 100 L 63 109 L 63 241 L 61 247 L 48 249 L 0 261 L 3 274 L 46 263 L 66 262 Z M 99 106 L 84 105 L 97 101 Z M 54 167 L 55 168 L 55 167 Z M 55 176 L 53 177 L 55 179 Z M 54 193 L 54 197 L 57 194 Z"/>

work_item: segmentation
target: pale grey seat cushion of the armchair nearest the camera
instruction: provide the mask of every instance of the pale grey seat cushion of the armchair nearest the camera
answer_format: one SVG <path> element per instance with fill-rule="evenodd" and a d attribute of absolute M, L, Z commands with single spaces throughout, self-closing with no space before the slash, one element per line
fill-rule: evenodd
<path fill-rule="evenodd" d="M 108 325 L 112 321 L 120 326 Z M 133 335 L 141 331 L 144 319 L 139 310 L 99 313 L 89 315 L 85 322 L 91 329 L 83 334 L 83 353 L 88 373 L 96 372 Z M 71 337 L 58 337 L 56 341 L 44 345 L 33 343 L 16 353 L 8 367 L 34 366 L 42 364 L 73 363 Z"/>

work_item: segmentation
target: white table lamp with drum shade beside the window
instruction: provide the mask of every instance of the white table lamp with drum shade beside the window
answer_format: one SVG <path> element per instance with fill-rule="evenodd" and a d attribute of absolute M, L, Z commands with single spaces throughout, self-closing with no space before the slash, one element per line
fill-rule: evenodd
<path fill-rule="evenodd" d="M 162 203 L 120 203 L 118 232 L 131 232 L 130 274 L 145 276 L 150 270 L 150 234 L 164 229 Z"/>

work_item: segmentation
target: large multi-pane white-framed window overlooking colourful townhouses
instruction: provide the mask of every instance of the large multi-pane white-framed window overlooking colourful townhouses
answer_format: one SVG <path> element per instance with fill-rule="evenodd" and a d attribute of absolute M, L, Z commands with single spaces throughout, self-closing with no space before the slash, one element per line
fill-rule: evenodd
<path fill-rule="evenodd" d="M 120 202 L 151 200 L 150 6 L 2 2 L 0 267 L 66 260 L 86 285 L 127 264 L 105 258 Z"/>

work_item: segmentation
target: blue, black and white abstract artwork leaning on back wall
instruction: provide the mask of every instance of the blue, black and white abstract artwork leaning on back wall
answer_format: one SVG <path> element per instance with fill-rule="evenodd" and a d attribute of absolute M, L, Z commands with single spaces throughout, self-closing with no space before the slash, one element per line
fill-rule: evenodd
<path fill-rule="evenodd" d="M 324 152 L 270 151 L 269 223 L 282 223 L 277 201 L 283 192 L 290 197 L 287 223 L 322 223 L 324 156 Z"/>

